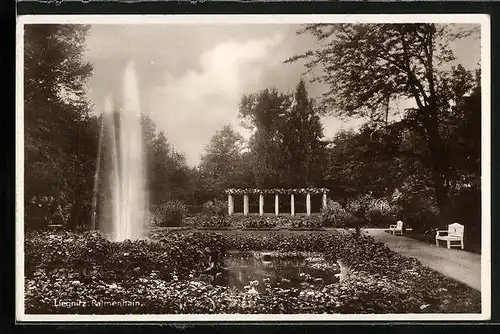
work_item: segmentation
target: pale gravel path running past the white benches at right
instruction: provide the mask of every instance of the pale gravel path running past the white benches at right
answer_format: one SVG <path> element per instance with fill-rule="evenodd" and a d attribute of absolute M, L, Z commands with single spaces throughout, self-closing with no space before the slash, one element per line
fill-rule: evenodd
<path fill-rule="evenodd" d="M 383 229 L 363 229 L 363 233 L 373 236 L 389 248 L 408 257 L 414 257 L 423 265 L 443 275 L 481 291 L 481 255 L 459 248 L 425 243 L 411 238 L 394 236 Z"/>

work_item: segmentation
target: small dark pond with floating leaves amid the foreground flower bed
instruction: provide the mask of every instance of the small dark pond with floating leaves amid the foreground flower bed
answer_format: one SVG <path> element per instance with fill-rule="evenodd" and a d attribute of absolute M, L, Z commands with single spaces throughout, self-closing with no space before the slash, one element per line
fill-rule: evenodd
<path fill-rule="evenodd" d="M 232 251 L 224 257 L 223 266 L 213 283 L 242 291 L 253 287 L 262 292 L 266 285 L 283 289 L 323 286 L 337 283 L 340 277 L 339 264 L 327 261 L 323 253 Z"/>

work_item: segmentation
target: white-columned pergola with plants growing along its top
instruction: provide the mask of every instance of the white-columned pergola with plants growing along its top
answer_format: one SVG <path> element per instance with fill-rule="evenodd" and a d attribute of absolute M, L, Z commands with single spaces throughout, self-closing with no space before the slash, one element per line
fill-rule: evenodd
<path fill-rule="evenodd" d="M 264 195 L 274 195 L 274 213 L 279 215 L 279 196 L 290 196 L 290 215 L 295 215 L 295 196 L 306 195 L 306 214 L 311 215 L 311 195 L 323 195 L 323 207 L 326 206 L 327 188 L 301 188 L 301 189 L 227 189 L 228 214 L 234 213 L 234 196 L 243 195 L 243 215 L 248 215 L 248 195 L 259 195 L 259 214 L 264 214 Z"/>

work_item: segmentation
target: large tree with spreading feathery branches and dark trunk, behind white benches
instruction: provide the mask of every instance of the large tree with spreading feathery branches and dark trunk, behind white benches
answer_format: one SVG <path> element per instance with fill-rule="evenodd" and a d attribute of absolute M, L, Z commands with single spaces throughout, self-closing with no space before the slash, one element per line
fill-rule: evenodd
<path fill-rule="evenodd" d="M 436 24 L 314 24 L 299 33 L 311 33 L 322 43 L 288 61 L 305 58 L 309 70 L 323 68 L 316 78 L 330 87 L 323 110 L 387 120 L 391 99 L 413 99 L 430 154 L 435 197 L 443 210 L 450 176 L 439 118 L 443 99 L 438 87 L 444 71 L 438 66 L 454 59 L 449 42 L 470 32 Z"/>

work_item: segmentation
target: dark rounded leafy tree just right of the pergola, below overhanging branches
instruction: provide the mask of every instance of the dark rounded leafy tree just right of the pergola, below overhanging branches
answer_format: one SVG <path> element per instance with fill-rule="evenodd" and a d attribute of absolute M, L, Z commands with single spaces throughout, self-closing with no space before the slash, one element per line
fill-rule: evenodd
<path fill-rule="evenodd" d="M 428 184 L 425 145 L 404 122 L 341 131 L 331 144 L 324 178 L 333 196 L 384 197 L 415 177 Z"/>

